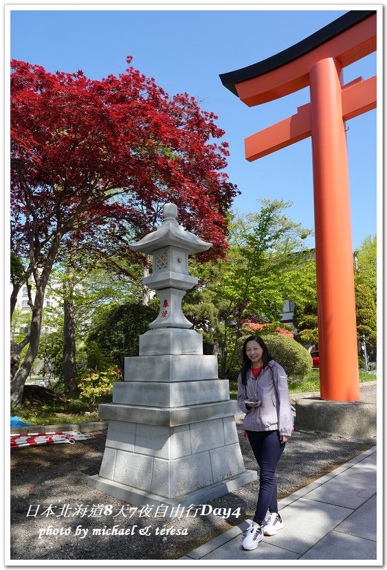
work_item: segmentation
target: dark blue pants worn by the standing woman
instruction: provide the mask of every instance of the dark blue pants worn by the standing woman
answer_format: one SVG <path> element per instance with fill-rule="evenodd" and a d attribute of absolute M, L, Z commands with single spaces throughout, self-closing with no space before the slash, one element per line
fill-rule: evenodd
<path fill-rule="evenodd" d="M 286 444 L 280 443 L 277 430 L 247 431 L 247 437 L 260 469 L 258 502 L 253 521 L 261 525 L 267 510 L 278 512 L 276 466 Z"/>

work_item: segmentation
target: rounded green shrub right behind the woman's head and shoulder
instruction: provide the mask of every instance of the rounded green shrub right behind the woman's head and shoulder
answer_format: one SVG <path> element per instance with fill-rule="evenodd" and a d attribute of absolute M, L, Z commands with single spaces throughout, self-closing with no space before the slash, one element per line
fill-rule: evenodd
<path fill-rule="evenodd" d="M 311 372 L 311 355 L 298 342 L 283 334 L 264 334 L 263 339 L 289 378 L 304 378 Z"/>

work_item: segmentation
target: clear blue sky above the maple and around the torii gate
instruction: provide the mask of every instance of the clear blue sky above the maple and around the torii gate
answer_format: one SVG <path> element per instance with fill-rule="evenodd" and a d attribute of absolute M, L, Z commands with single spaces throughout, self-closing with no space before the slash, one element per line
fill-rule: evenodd
<path fill-rule="evenodd" d="M 41 6 L 43 8 L 43 5 Z M 11 58 L 43 65 L 47 71 L 82 69 L 90 78 L 117 75 L 132 65 L 170 95 L 187 92 L 201 107 L 219 116 L 217 124 L 230 143 L 227 169 L 241 196 L 234 206 L 244 212 L 258 209 L 258 198 L 283 198 L 294 205 L 289 216 L 313 228 L 311 139 L 300 141 L 252 163 L 244 157 L 245 137 L 293 115 L 309 102 L 309 89 L 249 108 L 219 79 L 294 45 L 337 19 L 346 10 L 232 10 L 180 6 L 176 10 L 14 10 L 11 7 Z M 63 7 L 62 7 L 63 8 Z M 161 7 L 160 7 L 161 8 Z M 170 7 L 171 8 L 171 7 Z M 259 6 L 257 6 L 259 8 Z M 311 8 L 309 6 L 309 8 Z M 321 7 L 320 7 L 321 8 Z M 340 6 L 342 8 L 342 5 Z M 370 7 L 371 8 L 371 7 Z M 376 73 L 371 54 L 344 69 L 344 80 Z M 353 249 L 377 230 L 377 112 L 348 122 L 349 174 Z M 309 242 L 313 247 L 313 238 Z"/>

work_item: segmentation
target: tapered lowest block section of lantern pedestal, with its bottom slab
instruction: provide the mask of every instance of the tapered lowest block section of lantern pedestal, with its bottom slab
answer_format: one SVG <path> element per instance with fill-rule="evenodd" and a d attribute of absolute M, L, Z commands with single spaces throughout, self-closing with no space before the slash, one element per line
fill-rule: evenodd
<path fill-rule="evenodd" d="M 99 475 L 89 485 L 137 505 L 188 506 L 193 495 L 200 503 L 254 479 L 233 416 L 175 427 L 113 420 Z"/>

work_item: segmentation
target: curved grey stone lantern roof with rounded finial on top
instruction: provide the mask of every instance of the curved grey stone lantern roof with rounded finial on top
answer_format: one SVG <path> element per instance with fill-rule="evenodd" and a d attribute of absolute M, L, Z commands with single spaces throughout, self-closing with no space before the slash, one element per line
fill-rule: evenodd
<path fill-rule="evenodd" d="M 141 253 L 153 253 L 162 247 L 175 246 L 186 250 L 190 255 L 210 249 L 212 243 L 204 242 L 179 225 L 176 220 L 177 206 L 175 204 L 164 204 L 163 212 L 164 223 L 155 231 L 148 233 L 142 240 L 131 245 L 131 249 Z"/>

